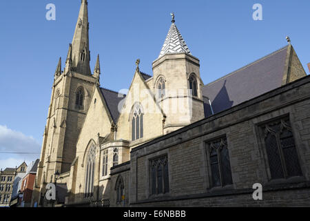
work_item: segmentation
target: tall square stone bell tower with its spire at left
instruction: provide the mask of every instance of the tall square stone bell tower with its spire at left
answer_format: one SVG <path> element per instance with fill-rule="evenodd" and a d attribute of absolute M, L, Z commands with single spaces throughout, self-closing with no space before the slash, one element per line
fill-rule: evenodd
<path fill-rule="evenodd" d="M 54 74 L 35 184 L 39 193 L 45 193 L 45 184 L 54 182 L 55 174 L 70 171 L 70 166 L 76 157 L 76 142 L 90 106 L 91 96 L 94 88 L 99 85 L 99 57 L 94 75 L 90 71 L 88 30 L 87 0 L 82 0 L 65 68 L 62 71 L 59 59 Z"/>

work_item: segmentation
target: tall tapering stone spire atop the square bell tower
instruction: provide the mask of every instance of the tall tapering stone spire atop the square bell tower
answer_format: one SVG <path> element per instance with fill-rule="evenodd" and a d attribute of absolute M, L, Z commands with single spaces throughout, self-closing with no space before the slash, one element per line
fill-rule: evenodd
<path fill-rule="evenodd" d="M 77 73 L 91 75 L 87 0 L 81 0 L 79 18 L 72 39 L 72 66 Z"/>

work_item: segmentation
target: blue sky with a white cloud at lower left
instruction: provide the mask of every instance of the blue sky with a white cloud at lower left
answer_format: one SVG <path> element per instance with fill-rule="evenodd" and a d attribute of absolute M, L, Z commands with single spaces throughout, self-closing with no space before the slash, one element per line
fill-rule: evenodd
<path fill-rule="evenodd" d="M 56 7 L 56 20 L 45 17 Z M 255 3 L 262 20 L 254 20 Z M 54 72 L 72 41 L 81 0 L 11 0 L 0 8 L 0 169 L 39 158 Z M 175 13 L 176 26 L 200 59 L 205 84 L 291 44 L 309 73 L 310 1 L 88 0 L 91 68 L 101 86 L 129 88 L 135 61 L 152 75 Z M 246 93 L 246 91 L 245 91 Z"/>

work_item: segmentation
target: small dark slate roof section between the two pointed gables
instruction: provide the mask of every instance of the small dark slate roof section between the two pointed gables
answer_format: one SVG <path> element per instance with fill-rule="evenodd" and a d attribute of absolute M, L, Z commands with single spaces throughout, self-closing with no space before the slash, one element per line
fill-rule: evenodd
<path fill-rule="evenodd" d="M 121 102 L 122 99 L 124 99 L 126 95 L 119 94 L 116 91 L 109 90 L 106 88 L 100 88 L 100 89 L 103 98 L 105 99 L 105 103 L 107 104 L 107 108 L 110 111 L 111 117 L 113 121 L 116 122 L 120 114 L 118 111 L 118 104 Z"/>

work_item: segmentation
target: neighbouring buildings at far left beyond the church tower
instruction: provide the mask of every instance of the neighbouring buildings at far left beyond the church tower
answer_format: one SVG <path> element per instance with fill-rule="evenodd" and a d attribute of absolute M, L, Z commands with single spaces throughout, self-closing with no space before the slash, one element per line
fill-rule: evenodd
<path fill-rule="evenodd" d="M 6 168 L 0 171 L 0 207 L 10 206 L 11 199 L 17 196 L 16 186 L 26 170 L 27 164 L 23 162 L 17 168 Z"/>

